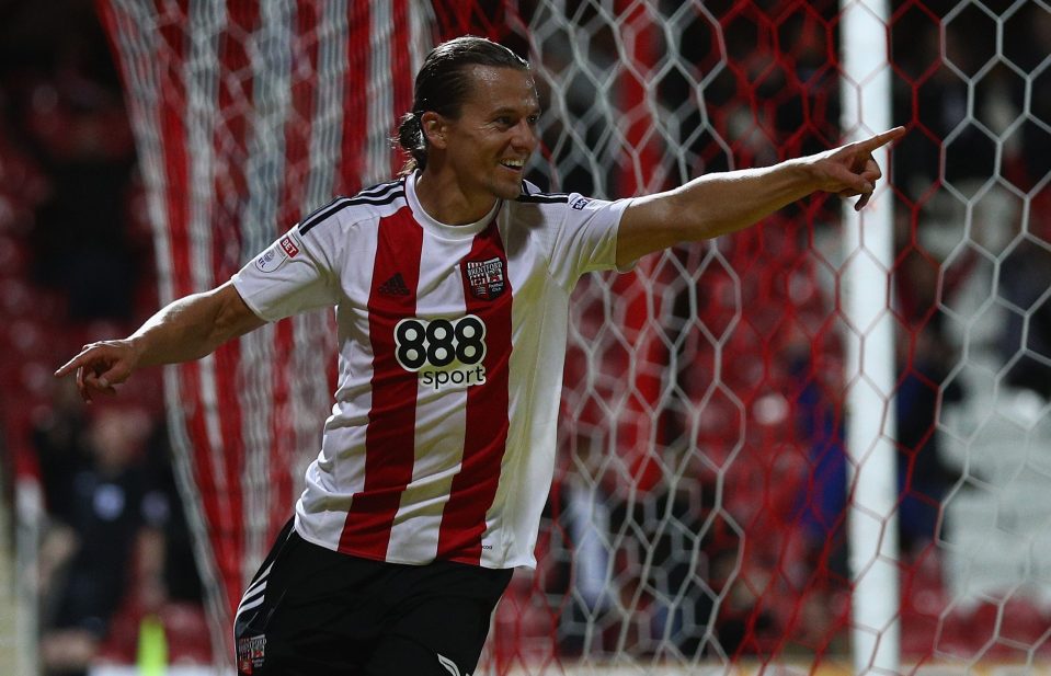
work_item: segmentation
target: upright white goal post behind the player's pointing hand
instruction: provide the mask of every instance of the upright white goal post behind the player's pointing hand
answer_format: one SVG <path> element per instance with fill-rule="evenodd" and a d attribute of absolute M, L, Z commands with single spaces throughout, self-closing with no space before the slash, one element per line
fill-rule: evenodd
<path fill-rule="evenodd" d="M 889 62 L 890 5 L 841 0 L 842 126 L 861 140 L 894 126 Z M 889 173 L 890 152 L 873 153 Z M 894 202 L 887 183 L 862 213 L 843 206 L 843 312 L 850 500 L 848 541 L 854 589 L 855 674 L 901 671 L 898 568 L 898 462 L 894 411 L 894 325 L 891 275 Z"/>

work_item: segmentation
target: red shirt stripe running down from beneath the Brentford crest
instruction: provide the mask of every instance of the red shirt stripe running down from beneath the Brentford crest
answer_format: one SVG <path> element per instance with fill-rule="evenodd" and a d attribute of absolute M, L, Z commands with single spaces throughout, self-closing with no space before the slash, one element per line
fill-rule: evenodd
<path fill-rule="evenodd" d="M 464 460 L 453 480 L 438 534 L 439 559 L 478 565 L 485 531 L 485 513 L 493 504 L 500 480 L 500 466 L 507 448 L 510 410 L 511 307 L 513 289 L 507 274 L 498 218 L 475 238 L 470 253 L 460 262 L 467 313 L 485 324 L 485 383 L 467 390 L 467 432 Z M 501 263 L 502 289 L 491 298 L 480 298 L 464 273 L 468 261 Z"/>

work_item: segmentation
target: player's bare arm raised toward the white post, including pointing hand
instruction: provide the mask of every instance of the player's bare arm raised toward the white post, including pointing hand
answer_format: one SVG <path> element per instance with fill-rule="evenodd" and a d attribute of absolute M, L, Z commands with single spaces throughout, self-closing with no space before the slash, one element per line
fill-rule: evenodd
<path fill-rule="evenodd" d="M 625 210 L 617 264 L 673 244 L 734 232 L 774 211 L 824 191 L 860 195 L 864 207 L 882 176 L 872 152 L 901 138 L 904 127 L 773 167 L 706 174 L 674 190 L 640 197 Z"/>

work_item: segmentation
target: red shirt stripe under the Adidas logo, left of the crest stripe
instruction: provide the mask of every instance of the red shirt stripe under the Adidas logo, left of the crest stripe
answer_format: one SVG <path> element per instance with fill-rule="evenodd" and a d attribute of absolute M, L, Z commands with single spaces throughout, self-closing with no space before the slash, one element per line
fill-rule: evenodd
<path fill-rule="evenodd" d="M 415 457 L 416 374 L 398 364 L 395 328 L 416 312 L 423 229 L 404 207 L 380 220 L 378 237 L 368 297 L 373 405 L 365 429 L 365 486 L 352 497 L 339 549 L 384 560 Z M 409 294 L 380 291 L 396 274 Z"/>

